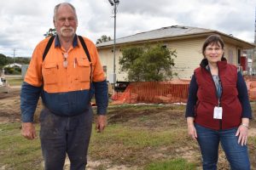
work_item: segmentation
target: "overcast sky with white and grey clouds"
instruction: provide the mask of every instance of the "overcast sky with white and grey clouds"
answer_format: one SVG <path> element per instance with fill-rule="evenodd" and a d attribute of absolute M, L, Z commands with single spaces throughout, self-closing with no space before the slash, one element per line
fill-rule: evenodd
<path fill-rule="evenodd" d="M 256 0 L 119 0 L 116 37 L 164 26 L 195 26 L 254 41 Z M 53 28 L 53 8 L 59 0 L 0 1 L 0 54 L 31 56 L 33 48 Z M 77 8 L 79 35 L 93 42 L 113 38 L 113 7 L 108 0 L 69 0 Z"/>

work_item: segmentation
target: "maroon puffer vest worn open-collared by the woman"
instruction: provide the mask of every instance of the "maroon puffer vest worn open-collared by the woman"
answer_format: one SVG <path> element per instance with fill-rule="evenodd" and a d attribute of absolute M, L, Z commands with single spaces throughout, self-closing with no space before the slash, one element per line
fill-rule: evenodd
<path fill-rule="evenodd" d="M 213 119 L 213 109 L 218 106 L 218 96 L 210 71 L 203 59 L 201 67 L 195 69 L 198 84 L 197 103 L 195 106 L 195 122 L 203 127 L 215 130 L 238 127 L 241 124 L 241 103 L 237 97 L 237 69 L 235 65 L 227 64 L 226 59 L 218 61 L 218 76 L 222 85 L 220 105 L 223 108 L 222 120 Z"/>

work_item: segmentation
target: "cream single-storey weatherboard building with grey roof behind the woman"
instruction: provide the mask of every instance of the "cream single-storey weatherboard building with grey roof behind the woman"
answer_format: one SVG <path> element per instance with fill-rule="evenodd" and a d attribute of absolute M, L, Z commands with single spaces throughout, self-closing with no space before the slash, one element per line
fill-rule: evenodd
<path fill-rule="evenodd" d="M 241 65 L 242 51 L 255 47 L 253 43 L 220 31 L 190 26 L 168 26 L 157 30 L 140 32 L 116 39 L 116 80 L 125 81 L 127 77 L 125 72 L 119 72 L 119 58 L 122 55 L 122 48 L 126 46 L 143 46 L 146 43 L 154 44 L 157 42 L 162 42 L 166 48 L 177 51 L 173 69 L 174 72 L 177 72 L 176 78 L 190 79 L 194 69 L 199 66 L 203 58 L 201 46 L 206 38 L 212 34 L 218 34 L 224 39 L 225 58 L 228 59 L 228 62 L 237 66 Z M 103 70 L 109 80 L 108 75 L 113 73 L 113 41 L 99 43 L 96 47 L 102 61 Z"/>

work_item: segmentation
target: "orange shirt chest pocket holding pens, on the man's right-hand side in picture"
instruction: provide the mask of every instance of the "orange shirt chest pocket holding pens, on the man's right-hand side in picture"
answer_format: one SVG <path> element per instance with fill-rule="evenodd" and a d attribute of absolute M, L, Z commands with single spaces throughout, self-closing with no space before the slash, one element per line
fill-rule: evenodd
<path fill-rule="evenodd" d="M 78 59 L 79 81 L 90 82 L 90 62 L 88 59 Z"/>

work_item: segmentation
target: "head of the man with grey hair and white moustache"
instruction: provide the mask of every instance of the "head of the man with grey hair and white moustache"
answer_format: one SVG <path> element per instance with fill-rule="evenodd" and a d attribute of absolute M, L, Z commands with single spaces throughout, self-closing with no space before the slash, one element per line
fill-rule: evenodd
<path fill-rule="evenodd" d="M 77 16 L 73 8 L 68 5 L 60 6 L 55 16 L 54 25 L 59 37 L 73 38 L 78 27 Z"/>

